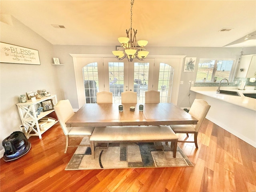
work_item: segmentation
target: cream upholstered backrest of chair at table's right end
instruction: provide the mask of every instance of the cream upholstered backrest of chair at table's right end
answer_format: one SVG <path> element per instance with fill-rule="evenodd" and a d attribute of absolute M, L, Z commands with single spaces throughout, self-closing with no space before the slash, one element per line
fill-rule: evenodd
<path fill-rule="evenodd" d="M 198 119 L 198 123 L 196 125 L 192 125 L 195 128 L 196 132 L 200 130 L 204 118 L 206 117 L 210 107 L 211 106 L 203 99 L 194 100 L 188 113 L 192 115 L 194 118 Z"/>

